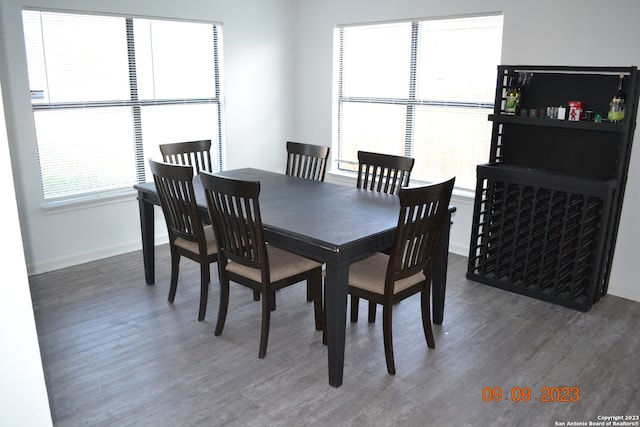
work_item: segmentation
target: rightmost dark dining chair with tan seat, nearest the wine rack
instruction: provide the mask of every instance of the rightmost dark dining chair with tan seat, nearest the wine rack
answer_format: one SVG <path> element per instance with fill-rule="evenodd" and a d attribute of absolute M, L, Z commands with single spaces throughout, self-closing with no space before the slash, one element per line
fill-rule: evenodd
<path fill-rule="evenodd" d="M 394 375 L 393 305 L 421 294 L 422 328 L 429 348 L 435 348 L 429 306 L 433 259 L 455 178 L 426 187 L 400 189 L 400 214 L 390 255 L 378 252 L 349 267 L 351 320 L 358 319 L 359 298 L 382 305 L 382 332 L 387 371 Z M 354 312 L 355 308 L 355 312 Z"/>

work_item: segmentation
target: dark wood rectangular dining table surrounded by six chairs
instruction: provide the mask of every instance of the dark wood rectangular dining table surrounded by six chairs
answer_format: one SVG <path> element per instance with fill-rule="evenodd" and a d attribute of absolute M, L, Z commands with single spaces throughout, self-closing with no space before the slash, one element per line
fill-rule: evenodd
<path fill-rule="evenodd" d="M 328 182 L 310 181 L 259 169 L 217 173 L 260 181 L 260 209 L 270 244 L 326 263 L 324 302 L 327 316 L 329 384 L 342 384 L 345 350 L 349 265 L 389 248 L 398 221 L 397 196 Z M 153 182 L 137 184 L 145 280 L 155 281 L 154 205 L 159 205 Z M 198 206 L 208 218 L 204 192 L 194 178 Z M 449 221 L 455 207 L 449 206 Z M 434 260 L 433 323 L 443 320 L 449 227 L 445 227 Z"/>

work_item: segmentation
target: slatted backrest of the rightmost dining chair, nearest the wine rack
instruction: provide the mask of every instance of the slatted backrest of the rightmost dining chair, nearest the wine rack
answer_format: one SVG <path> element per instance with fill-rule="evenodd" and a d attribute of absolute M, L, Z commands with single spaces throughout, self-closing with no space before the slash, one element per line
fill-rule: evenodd
<path fill-rule="evenodd" d="M 400 190 L 398 228 L 387 268 L 387 286 L 424 271 L 430 274 L 455 177 L 439 184 Z M 391 289 L 385 289 L 390 292 Z"/>

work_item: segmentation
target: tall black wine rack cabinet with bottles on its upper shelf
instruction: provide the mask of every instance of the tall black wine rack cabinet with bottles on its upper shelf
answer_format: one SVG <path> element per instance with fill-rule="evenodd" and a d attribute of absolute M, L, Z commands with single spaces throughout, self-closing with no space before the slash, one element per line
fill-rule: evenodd
<path fill-rule="evenodd" d="M 523 108 L 584 100 L 622 123 L 505 115 L 506 82 L 533 75 Z M 490 163 L 478 165 L 467 277 L 587 311 L 606 294 L 638 103 L 635 67 L 498 67 Z"/>

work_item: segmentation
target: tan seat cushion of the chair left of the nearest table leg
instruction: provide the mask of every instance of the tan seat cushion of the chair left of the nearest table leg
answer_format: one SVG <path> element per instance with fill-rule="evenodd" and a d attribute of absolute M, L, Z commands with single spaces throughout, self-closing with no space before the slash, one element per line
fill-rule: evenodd
<path fill-rule="evenodd" d="M 267 253 L 269 254 L 271 282 L 277 282 L 286 277 L 322 267 L 322 264 L 319 262 L 278 249 L 271 245 L 267 245 Z M 227 264 L 227 271 L 246 277 L 254 282 L 262 282 L 260 269 L 257 268 L 247 267 L 237 262 L 230 262 Z"/>

